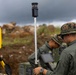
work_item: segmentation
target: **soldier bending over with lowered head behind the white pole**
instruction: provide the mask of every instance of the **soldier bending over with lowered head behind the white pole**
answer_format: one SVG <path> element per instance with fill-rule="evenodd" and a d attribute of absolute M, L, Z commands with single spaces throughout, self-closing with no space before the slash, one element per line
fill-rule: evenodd
<path fill-rule="evenodd" d="M 43 64 L 43 61 L 41 60 L 40 56 L 41 54 L 46 54 L 49 52 L 52 52 L 53 49 L 58 48 L 61 45 L 62 41 L 61 38 L 58 35 L 55 35 L 53 37 L 51 37 L 51 39 L 49 41 L 47 41 L 43 46 L 41 46 L 38 50 L 38 59 L 40 60 L 40 64 L 42 67 L 46 68 L 46 65 Z M 35 65 L 35 53 L 31 54 L 28 57 L 28 61 L 30 62 L 30 64 L 32 65 L 33 68 L 37 67 Z M 49 66 L 48 66 L 49 67 Z M 48 68 L 46 68 L 48 69 Z"/>

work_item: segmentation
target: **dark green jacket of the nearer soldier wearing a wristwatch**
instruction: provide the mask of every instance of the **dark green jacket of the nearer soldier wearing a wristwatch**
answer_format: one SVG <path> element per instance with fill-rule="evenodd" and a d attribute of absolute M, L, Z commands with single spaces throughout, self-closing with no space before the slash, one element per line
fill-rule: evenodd
<path fill-rule="evenodd" d="M 46 75 L 76 75 L 76 40 L 61 53 L 56 69 Z"/>

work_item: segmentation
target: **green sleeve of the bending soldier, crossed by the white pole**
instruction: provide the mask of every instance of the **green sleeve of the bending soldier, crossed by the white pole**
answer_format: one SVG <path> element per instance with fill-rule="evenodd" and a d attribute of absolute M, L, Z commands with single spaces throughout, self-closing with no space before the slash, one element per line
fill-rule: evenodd
<path fill-rule="evenodd" d="M 37 57 L 39 59 L 40 55 L 42 53 L 48 53 L 50 50 L 52 50 L 48 44 L 48 42 L 46 42 L 43 46 L 41 46 L 38 50 L 37 50 Z M 30 64 L 32 65 L 33 68 L 36 67 L 35 65 L 35 53 L 32 53 L 29 57 L 28 57 L 28 61 L 30 62 Z"/>

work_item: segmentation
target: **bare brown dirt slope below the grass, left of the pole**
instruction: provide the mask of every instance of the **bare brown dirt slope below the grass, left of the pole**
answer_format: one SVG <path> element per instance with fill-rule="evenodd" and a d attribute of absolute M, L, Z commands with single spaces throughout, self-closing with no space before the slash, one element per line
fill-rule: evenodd
<path fill-rule="evenodd" d="M 34 52 L 34 49 L 25 45 L 6 46 L 0 50 L 4 61 L 12 69 L 12 75 L 19 75 L 19 64 L 27 62 L 27 58 L 32 52 Z M 4 70 L 1 69 L 1 72 L 4 72 Z"/>

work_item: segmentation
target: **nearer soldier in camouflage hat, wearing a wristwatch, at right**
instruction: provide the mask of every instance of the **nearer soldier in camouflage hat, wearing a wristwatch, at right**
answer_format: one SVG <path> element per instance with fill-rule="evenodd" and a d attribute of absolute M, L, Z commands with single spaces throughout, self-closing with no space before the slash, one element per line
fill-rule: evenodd
<path fill-rule="evenodd" d="M 61 27 L 60 36 L 67 43 L 60 56 L 59 63 L 54 71 L 37 67 L 34 73 L 42 72 L 44 75 L 76 75 L 76 23 L 69 22 Z"/>

